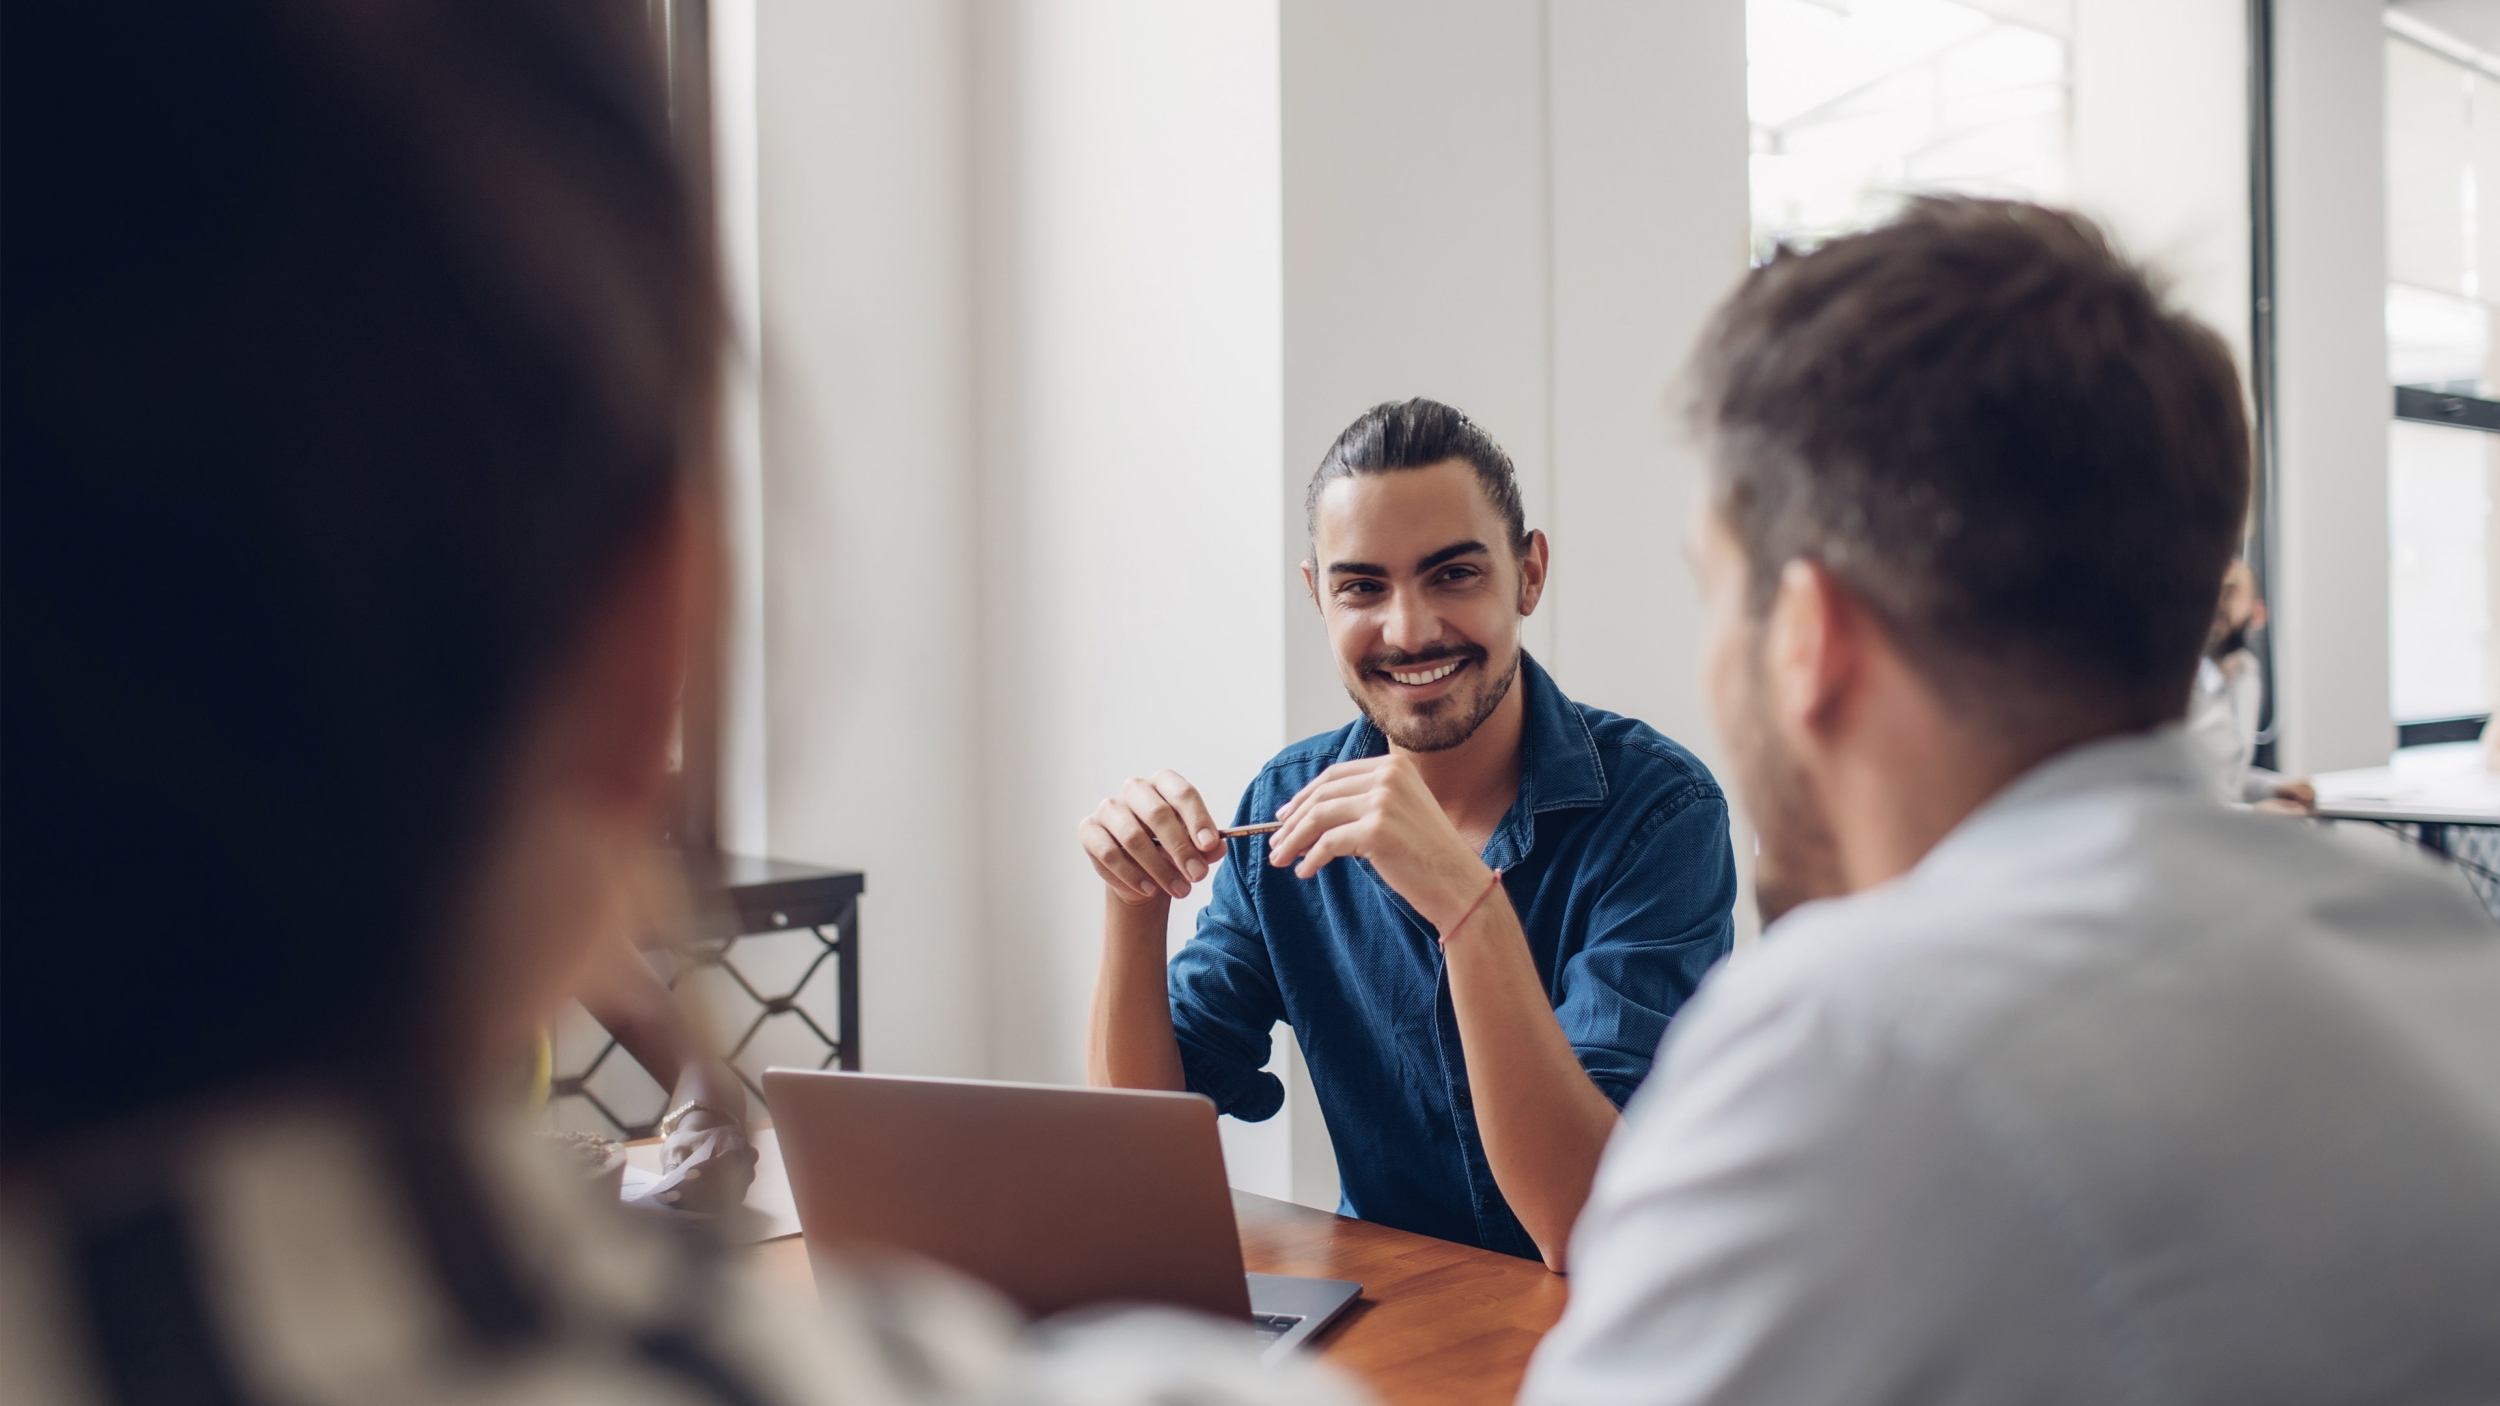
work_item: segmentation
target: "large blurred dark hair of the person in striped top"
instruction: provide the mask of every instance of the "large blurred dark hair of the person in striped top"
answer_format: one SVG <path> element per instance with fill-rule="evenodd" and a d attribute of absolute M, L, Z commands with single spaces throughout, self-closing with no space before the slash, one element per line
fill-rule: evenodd
<path fill-rule="evenodd" d="M 718 355 L 640 0 L 10 13 L 15 1148 L 408 1056 Z"/>

